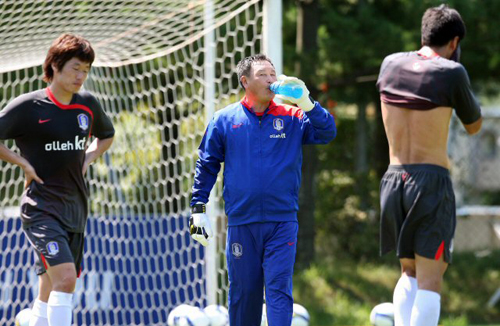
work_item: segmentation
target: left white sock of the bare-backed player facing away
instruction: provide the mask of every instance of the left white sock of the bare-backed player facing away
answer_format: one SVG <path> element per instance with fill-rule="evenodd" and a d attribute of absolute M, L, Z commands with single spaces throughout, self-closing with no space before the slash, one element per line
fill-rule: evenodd
<path fill-rule="evenodd" d="M 394 288 L 394 325 L 410 326 L 411 310 L 417 295 L 417 279 L 402 275 Z"/>

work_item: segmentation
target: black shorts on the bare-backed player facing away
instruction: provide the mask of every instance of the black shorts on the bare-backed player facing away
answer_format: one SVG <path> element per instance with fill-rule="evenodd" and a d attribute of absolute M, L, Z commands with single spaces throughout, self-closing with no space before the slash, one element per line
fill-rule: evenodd
<path fill-rule="evenodd" d="M 390 165 L 380 182 L 380 254 L 396 249 L 451 263 L 455 194 L 447 169 L 431 164 Z"/>

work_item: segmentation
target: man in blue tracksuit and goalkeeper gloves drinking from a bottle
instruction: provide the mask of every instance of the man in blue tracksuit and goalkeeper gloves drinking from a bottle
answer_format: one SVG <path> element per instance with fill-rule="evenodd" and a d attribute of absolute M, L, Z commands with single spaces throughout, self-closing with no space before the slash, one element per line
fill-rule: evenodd
<path fill-rule="evenodd" d="M 245 97 L 216 112 L 201 141 L 191 233 L 203 245 L 212 237 L 205 204 L 224 162 L 230 324 L 260 325 L 265 285 L 269 325 L 290 326 L 302 145 L 331 141 L 335 122 L 294 77 L 282 81 L 301 87 L 302 97 L 282 98 L 298 107 L 276 104 L 269 89 L 276 72 L 265 55 L 244 58 L 236 70 Z"/>

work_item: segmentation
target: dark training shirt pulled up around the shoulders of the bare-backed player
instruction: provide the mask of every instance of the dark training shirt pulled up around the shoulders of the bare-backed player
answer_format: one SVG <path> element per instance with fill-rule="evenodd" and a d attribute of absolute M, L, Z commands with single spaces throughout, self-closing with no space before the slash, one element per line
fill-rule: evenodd
<path fill-rule="evenodd" d="M 464 124 L 476 122 L 481 108 L 464 66 L 438 55 L 400 52 L 387 56 L 377 80 L 382 102 L 414 110 L 452 107 Z"/>

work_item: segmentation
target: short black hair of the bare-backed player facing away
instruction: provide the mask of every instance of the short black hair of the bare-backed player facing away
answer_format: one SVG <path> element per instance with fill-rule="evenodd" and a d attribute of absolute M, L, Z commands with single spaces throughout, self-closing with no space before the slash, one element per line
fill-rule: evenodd
<path fill-rule="evenodd" d="M 465 32 L 462 17 L 448 5 L 429 8 L 422 17 L 422 45 L 443 46 L 456 36 L 461 41 Z"/>

